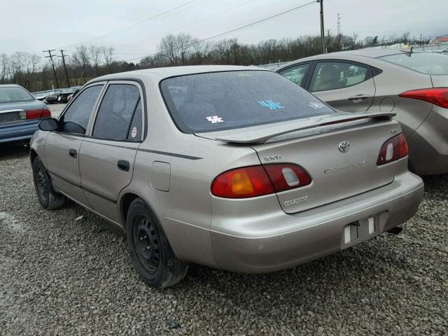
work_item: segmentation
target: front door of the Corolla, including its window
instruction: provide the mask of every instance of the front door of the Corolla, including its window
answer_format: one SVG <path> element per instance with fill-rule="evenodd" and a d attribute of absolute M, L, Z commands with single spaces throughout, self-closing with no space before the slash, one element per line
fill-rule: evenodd
<path fill-rule="evenodd" d="M 88 207 L 81 188 L 79 151 L 104 83 L 85 87 L 59 118 L 60 130 L 48 134 L 45 165 L 61 193 Z"/>

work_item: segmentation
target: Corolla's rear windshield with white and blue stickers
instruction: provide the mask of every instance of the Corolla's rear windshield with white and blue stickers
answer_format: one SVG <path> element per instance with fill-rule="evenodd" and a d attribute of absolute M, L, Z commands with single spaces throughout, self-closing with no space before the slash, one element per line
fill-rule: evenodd
<path fill-rule="evenodd" d="M 271 71 L 199 73 L 162 80 L 162 95 L 182 132 L 230 130 L 335 113 Z"/>

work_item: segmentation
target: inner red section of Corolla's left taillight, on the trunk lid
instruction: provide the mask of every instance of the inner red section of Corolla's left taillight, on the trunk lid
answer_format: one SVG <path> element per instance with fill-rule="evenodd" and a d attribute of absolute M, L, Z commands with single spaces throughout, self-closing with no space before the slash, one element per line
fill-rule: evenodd
<path fill-rule="evenodd" d="M 276 193 L 308 186 L 311 183 L 311 176 L 297 165 L 267 165 L 265 169 Z"/>

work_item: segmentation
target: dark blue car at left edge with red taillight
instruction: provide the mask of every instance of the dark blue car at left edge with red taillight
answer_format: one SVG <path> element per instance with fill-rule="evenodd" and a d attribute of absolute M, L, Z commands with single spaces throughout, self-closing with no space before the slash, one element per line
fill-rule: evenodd
<path fill-rule="evenodd" d="M 24 87 L 0 85 L 0 143 L 29 141 L 43 118 L 51 113 Z"/>

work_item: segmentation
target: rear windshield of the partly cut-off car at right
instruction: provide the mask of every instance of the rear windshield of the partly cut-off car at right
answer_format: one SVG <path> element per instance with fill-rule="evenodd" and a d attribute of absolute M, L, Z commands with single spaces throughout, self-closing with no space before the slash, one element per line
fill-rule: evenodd
<path fill-rule="evenodd" d="M 428 75 L 448 75 L 448 55 L 435 52 L 413 52 L 412 54 L 403 52 L 398 55 L 378 57 L 378 59 Z"/>

